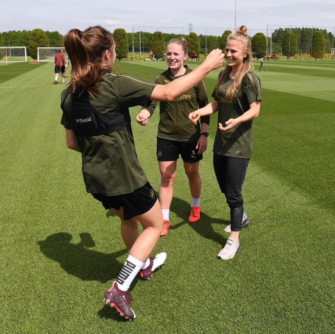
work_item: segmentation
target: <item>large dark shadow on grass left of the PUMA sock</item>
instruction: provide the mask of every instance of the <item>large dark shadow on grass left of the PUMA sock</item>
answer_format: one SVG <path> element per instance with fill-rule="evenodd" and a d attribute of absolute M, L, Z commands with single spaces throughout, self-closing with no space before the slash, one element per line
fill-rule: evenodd
<path fill-rule="evenodd" d="M 68 274 L 83 281 L 106 283 L 117 277 L 123 266 L 117 258 L 126 254 L 127 248 L 105 254 L 88 249 L 95 246 L 89 233 L 81 233 L 77 244 L 71 239 L 71 234 L 62 232 L 49 235 L 37 243 L 47 258 L 58 262 Z"/>

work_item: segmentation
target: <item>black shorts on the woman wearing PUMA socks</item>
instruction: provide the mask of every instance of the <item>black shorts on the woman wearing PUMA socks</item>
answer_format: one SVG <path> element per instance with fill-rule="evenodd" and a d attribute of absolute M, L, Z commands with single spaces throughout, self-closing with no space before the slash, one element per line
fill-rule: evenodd
<path fill-rule="evenodd" d="M 149 182 L 128 194 L 107 196 L 92 193 L 92 196 L 100 201 L 106 210 L 111 208 L 120 210 L 123 207 L 124 220 L 149 211 L 157 201 L 156 193 Z"/>

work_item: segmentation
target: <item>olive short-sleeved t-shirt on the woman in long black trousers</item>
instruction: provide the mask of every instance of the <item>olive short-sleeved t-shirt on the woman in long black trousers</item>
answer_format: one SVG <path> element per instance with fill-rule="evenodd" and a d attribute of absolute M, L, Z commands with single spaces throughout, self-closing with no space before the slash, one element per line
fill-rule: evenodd
<path fill-rule="evenodd" d="M 222 72 L 221 72 L 222 73 Z M 219 74 L 219 77 L 221 75 Z M 261 101 L 260 80 L 257 75 L 250 71 L 242 79 L 234 99 L 226 98 L 226 91 L 233 82 L 229 76 L 222 82 L 216 95 L 215 90 L 212 97 L 219 102 L 218 123 L 225 124 L 230 118 L 237 118 L 250 109 L 250 104 Z M 251 158 L 253 141 L 252 120 L 241 123 L 229 130 L 216 130 L 213 152 L 235 158 Z"/>

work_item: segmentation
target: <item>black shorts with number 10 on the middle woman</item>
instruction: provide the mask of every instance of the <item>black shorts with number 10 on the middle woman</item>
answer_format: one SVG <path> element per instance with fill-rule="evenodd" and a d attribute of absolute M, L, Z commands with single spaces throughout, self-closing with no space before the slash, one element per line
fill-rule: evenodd
<path fill-rule="evenodd" d="M 198 162 L 202 159 L 202 154 L 198 154 L 197 142 L 176 142 L 164 138 L 157 138 L 157 160 L 175 161 L 181 155 L 185 162 Z"/>

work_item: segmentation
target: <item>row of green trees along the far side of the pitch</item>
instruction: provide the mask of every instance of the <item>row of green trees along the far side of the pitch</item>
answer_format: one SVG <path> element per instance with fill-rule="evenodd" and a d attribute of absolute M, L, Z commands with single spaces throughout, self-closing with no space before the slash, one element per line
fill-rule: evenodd
<path fill-rule="evenodd" d="M 313 32 L 313 35 L 312 35 Z M 173 38 L 179 38 L 178 34 L 166 34 L 162 32 L 137 32 L 134 33 L 134 40 L 139 41 L 141 34 L 141 42 L 148 43 L 150 49 L 153 50 L 157 58 L 161 58 L 165 52 L 165 42 Z M 230 30 L 226 30 L 222 36 L 197 35 L 190 33 L 186 35 L 189 53 L 195 51 L 197 54 L 210 51 L 212 49 L 224 49 L 227 43 L 227 37 L 231 34 Z M 2 35 L 2 36 L 1 36 Z M 116 41 L 117 58 L 125 58 L 128 54 L 129 44 L 133 41 L 133 34 L 126 33 L 124 29 L 116 29 L 113 33 Z M 57 31 L 49 32 L 42 29 L 9 31 L 0 33 L 0 46 L 4 45 L 4 41 L 9 41 L 10 46 L 25 46 L 27 53 L 32 58 L 37 58 L 37 47 L 59 47 L 64 46 L 64 37 Z M 257 58 L 264 57 L 267 53 L 267 38 L 263 33 L 256 33 L 253 37 L 249 37 L 252 52 Z M 314 58 L 323 58 L 325 53 L 331 52 L 334 36 L 327 30 L 312 28 L 279 28 L 272 33 L 271 38 L 268 37 L 268 44 L 280 44 L 280 52 L 291 57 L 300 51 L 298 45 L 306 45 L 306 53 L 312 54 Z M 6 46 L 9 46 L 6 44 Z M 312 49 L 311 49 L 312 46 Z M 278 52 L 278 51 L 277 51 Z"/>

